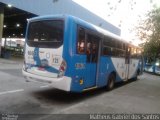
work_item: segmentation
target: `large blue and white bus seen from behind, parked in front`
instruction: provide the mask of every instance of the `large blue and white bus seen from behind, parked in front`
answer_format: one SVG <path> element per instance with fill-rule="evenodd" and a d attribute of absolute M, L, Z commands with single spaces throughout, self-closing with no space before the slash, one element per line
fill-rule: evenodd
<path fill-rule="evenodd" d="M 26 30 L 23 75 L 70 92 L 100 87 L 142 73 L 141 49 L 71 15 L 31 18 Z"/>

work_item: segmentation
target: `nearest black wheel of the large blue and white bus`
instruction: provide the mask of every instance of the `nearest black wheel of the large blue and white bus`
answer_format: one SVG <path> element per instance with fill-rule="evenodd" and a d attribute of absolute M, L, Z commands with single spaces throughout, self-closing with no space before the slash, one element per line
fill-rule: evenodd
<path fill-rule="evenodd" d="M 115 75 L 112 73 L 109 75 L 108 78 L 107 90 L 112 90 L 114 88 L 114 83 L 115 83 Z"/>

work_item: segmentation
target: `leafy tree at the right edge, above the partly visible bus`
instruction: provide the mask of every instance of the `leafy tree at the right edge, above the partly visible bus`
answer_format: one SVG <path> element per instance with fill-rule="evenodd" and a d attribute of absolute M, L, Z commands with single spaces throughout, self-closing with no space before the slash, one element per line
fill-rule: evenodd
<path fill-rule="evenodd" d="M 160 55 L 160 8 L 148 12 L 136 29 L 137 35 L 144 41 L 144 55 L 157 58 Z"/>

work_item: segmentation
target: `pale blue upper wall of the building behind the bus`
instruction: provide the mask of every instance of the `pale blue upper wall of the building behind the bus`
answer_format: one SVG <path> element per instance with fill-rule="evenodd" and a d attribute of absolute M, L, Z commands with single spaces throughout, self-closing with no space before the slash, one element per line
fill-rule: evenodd
<path fill-rule="evenodd" d="M 103 18 L 98 17 L 72 0 L 0 0 L 0 2 L 11 4 L 16 8 L 36 15 L 70 14 L 100 26 L 114 34 L 121 34 L 119 28 L 113 26 Z"/>

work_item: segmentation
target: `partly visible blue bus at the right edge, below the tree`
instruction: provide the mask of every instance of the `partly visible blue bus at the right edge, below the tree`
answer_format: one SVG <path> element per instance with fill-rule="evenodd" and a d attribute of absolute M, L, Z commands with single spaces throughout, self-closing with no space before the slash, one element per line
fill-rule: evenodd
<path fill-rule="evenodd" d="M 145 57 L 144 71 L 160 75 L 160 56 Z"/>

